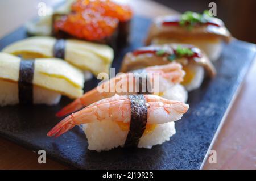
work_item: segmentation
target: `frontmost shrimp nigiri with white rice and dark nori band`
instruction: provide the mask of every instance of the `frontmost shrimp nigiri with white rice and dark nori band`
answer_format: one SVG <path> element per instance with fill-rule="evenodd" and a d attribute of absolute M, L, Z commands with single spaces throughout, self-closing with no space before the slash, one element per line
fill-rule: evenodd
<path fill-rule="evenodd" d="M 151 149 L 170 140 L 189 106 L 157 95 L 115 95 L 99 100 L 60 121 L 47 136 L 58 137 L 82 125 L 89 150 L 118 146 Z"/>

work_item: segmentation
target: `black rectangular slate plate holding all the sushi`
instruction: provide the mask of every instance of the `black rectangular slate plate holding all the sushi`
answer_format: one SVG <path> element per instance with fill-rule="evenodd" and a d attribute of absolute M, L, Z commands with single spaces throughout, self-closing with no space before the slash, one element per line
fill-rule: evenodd
<path fill-rule="evenodd" d="M 118 52 L 112 67 L 119 69 L 123 55 L 143 45 L 150 20 L 136 16 L 132 21 L 131 43 Z M 26 38 L 24 27 L 0 40 L 0 49 Z M 79 169 L 199 169 L 221 123 L 222 117 L 240 87 L 255 57 L 255 45 L 234 40 L 225 45 L 216 62 L 216 78 L 205 80 L 200 89 L 189 93 L 189 111 L 176 122 L 171 140 L 152 149 L 90 151 L 85 134 L 75 127 L 59 138 L 46 133 L 60 119 L 55 113 L 70 100 L 57 106 L 0 107 L 0 134 L 31 150 L 46 150 L 47 156 Z M 98 81 L 85 83 L 88 91 Z M 0 89 L 5 89 L 1 87 Z"/>

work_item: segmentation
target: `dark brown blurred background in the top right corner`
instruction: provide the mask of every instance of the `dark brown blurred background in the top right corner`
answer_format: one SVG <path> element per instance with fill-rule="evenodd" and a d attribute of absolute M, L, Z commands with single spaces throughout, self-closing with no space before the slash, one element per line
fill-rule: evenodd
<path fill-rule="evenodd" d="M 225 22 L 234 37 L 256 43 L 256 1 L 255 0 L 155 0 L 172 9 L 185 12 L 203 12 L 210 2 L 217 4 L 217 17 Z"/>

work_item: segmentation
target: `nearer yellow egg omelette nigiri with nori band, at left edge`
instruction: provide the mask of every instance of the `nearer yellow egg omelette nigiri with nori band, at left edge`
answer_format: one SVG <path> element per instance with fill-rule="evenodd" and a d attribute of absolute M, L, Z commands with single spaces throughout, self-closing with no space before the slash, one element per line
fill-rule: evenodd
<path fill-rule="evenodd" d="M 76 99 L 83 94 L 82 71 L 58 58 L 23 60 L 0 53 L 0 106 L 47 104 L 61 95 Z"/>

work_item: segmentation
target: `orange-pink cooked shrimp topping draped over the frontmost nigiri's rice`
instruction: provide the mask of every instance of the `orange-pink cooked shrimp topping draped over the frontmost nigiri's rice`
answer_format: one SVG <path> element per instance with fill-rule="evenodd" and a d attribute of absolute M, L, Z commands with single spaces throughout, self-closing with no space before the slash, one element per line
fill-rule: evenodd
<path fill-rule="evenodd" d="M 147 124 L 164 124 L 176 121 L 187 112 L 189 106 L 183 102 L 168 100 L 157 95 L 144 95 L 147 106 Z M 118 121 L 129 123 L 131 102 L 127 95 L 115 95 L 99 100 L 84 109 L 69 115 L 58 123 L 47 136 L 58 137 L 75 125 L 95 123 L 97 121 Z"/>

